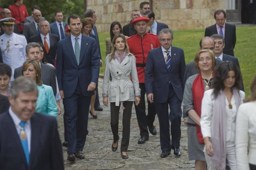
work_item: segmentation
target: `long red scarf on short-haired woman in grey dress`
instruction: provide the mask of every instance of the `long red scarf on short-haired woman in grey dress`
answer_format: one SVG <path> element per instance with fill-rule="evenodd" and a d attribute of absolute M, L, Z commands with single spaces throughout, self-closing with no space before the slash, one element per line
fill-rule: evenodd
<path fill-rule="evenodd" d="M 198 116 L 201 118 L 201 106 L 202 106 L 202 99 L 204 96 L 204 81 L 201 76 L 201 73 L 197 75 L 196 79 L 193 82 L 192 96 L 193 96 L 194 110 L 196 111 Z M 201 133 L 201 128 L 198 124 L 196 124 L 196 133 L 197 133 L 197 139 L 199 143 L 203 144 L 204 138 Z"/>

